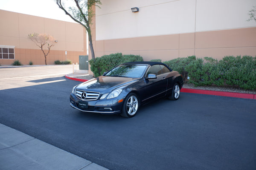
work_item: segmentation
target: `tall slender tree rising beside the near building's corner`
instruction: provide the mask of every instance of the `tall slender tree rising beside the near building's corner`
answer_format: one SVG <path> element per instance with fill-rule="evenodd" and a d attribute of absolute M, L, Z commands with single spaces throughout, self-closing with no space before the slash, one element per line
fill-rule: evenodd
<path fill-rule="evenodd" d="M 90 46 L 92 59 L 95 60 L 90 25 L 91 25 L 92 18 L 94 16 L 94 13 L 92 11 L 92 6 L 95 5 L 100 8 L 99 5 L 102 4 L 100 0 L 55 0 L 55 1 L 58 7 L 61 8 L 65 12 L 65 14 L 70 16 L 74 21 L 81 24 L 81 26 L 83 26 L 86 29 L 88 33 L 89 46 Z M 72 1 L 73 6 L 70 6 L 67 8 L 65 6 L 65 2 L 67 1 L 69 2 Z"/>

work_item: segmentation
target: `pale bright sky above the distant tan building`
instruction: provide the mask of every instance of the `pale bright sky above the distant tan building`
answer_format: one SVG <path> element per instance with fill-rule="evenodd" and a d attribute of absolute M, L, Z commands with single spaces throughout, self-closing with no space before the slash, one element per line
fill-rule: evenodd
<path fill-rule="evenodd" d="M 74 23 L 55 0 L 0 0 L 0 9 Z"/>

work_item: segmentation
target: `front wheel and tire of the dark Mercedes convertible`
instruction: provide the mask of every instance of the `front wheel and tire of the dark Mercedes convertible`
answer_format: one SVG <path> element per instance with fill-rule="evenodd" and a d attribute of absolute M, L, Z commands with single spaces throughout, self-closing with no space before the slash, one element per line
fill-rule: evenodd
<path fill-rule="evenodd" d="M 125 97 L 125 101 L 122 106 L 121 116 L 123 117 L 133 117 L 136 115 L 140 106 L 139 98 L 136 94 L 130 93 Z"/>

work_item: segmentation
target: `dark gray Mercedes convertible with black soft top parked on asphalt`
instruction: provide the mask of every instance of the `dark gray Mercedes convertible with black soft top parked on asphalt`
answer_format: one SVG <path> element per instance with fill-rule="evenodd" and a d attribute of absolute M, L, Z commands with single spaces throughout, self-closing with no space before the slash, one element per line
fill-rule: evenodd
<path fill-rule="evenodd" d="M 162 62 L 128 62 L 75 86 L 70 105 L 85 112 L 133 117 L 150 100 L 179 99 L 182 86 L 181 75 Z"/>

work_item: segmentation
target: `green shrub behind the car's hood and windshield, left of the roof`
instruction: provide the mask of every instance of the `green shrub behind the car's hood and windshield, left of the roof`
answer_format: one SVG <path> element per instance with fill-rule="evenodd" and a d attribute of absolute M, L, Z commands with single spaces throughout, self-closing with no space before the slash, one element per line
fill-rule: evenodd
<path fill-rule="evenodd" d="M 90 59 L 90 69 L 95 77 L 98 77 L 104 72 L 111 70 L 116 65 L 125 62 L 143 61 L 143 58 L 139 55 L 122 55 L 122 53 L 104 55 L 102 57 L 96 57 L 95 61 Z"/>

